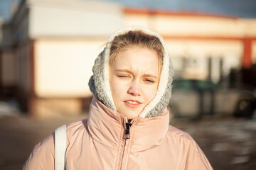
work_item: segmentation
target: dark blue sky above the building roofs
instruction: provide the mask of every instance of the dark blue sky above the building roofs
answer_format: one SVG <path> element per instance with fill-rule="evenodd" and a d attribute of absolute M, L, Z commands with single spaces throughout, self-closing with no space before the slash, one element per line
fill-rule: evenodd
<path fill-rule="evenodd" d="M 5 21 L 11 18 L 11 1 L 0 0 L 0 17 Z M 88 0 L 70 0 L 88 1 Z M 92 0 L 90 0 L 92 1 Z M 97 0 L 114 1 L 132 8 L 162 9 L 169 11 L 190 11 L 218 15 L 256 18 L 256 0 Z"/>

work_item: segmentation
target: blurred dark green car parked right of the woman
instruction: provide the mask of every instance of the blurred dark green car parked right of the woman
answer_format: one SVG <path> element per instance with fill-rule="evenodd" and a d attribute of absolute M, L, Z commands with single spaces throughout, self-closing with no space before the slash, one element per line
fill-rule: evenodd
<path fill-rule="evenodd" d="M 169 103 L 176 118 L 229 114 L 250 118 L 256 111 L 256 97 L 250 89 L 230 89 L 209 80 L 176 79 Z"/>

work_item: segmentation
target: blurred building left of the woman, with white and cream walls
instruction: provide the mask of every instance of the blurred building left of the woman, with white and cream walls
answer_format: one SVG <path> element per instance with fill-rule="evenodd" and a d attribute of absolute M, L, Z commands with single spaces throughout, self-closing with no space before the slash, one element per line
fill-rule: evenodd
<path fill-rule="evenodd" d="M 122 15 L 119 4 L 21 1 L 2 27 L 1 89 L 15 89 L 23 111 L 34 115 L 80 113 L 95 57 Z"/>

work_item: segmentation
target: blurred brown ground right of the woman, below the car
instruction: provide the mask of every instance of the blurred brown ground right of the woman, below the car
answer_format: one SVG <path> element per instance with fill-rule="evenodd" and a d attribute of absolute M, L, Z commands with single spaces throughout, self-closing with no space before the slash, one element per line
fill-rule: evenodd
<path fill-rule="evenodd" d="M 172 120 L 188 132 L 215 170 L 256 169 L 256 119 L 210 115 L 198 120 Z"/>

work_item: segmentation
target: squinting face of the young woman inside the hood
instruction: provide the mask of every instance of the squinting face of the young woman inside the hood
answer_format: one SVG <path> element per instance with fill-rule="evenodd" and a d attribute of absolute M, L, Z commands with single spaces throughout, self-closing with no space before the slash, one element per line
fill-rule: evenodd
<path fill-rule="evenodd" d="M 110 89 L 117 112 L 135 118 L 156 95 L 159 57 L 154 50 L 129 47 L 120 52 L 110 69 Z"/>

